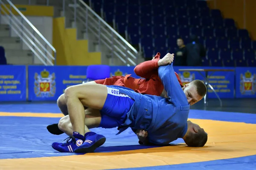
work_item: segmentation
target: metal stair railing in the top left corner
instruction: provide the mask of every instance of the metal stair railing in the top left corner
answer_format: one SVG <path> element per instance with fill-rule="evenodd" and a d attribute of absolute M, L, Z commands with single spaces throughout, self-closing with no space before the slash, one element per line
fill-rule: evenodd
<path fill-rule="evenodd" d="M 28 46 L 28 48 L 33 52 L 34 57 L 37 57 L 44 65 L 56 65 L 56 50 L 55 48 L 46 40 L 46 38 L 38 31 L 35 26 L 15 7 L 15 5 L 10 0 L 5 0 L 10 6 L 7 7 L 3 0 L 0 0 L 0 11 L 3 12 L 2 19 L 9 24 L 10 29 L 12 29 L 20 39 Z M 13 14 L 14 9 L 18 13 L 18 17 Z M 31 29 L 33 31 L 29 31 Z M 41 41 L 35 36 L 39 36 Z M 44 44 L 44 45 L 43 45 Z M 51 50 L 47 50 L 47 48 Z M 51 53 L 54 53 L 52 55 Z M 54 60 L 54 62 L 52 62 Z"/>

